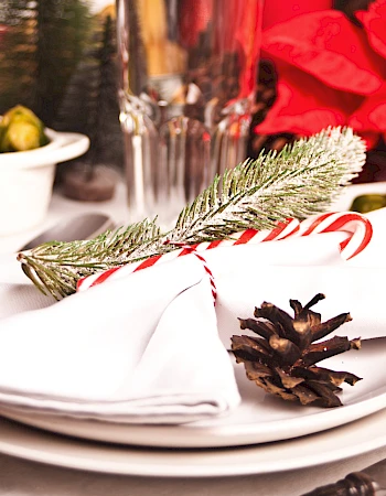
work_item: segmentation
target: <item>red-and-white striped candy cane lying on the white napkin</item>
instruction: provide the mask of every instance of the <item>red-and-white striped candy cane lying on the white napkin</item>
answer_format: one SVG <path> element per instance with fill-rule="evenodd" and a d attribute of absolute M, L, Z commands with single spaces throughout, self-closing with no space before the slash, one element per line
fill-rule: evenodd
<path fill-rule="evenodd" d="M 271 230 L 246 229 L 232 236 L 230 239 L 215 240 L 212 242 L 200 242 L 197 245 L 183 246 L 173 251 L 163 255 L 149 257 L 146 260 L 128 263 L 122 267 L 114 267 L 104 272 L 95 273 L 87 278 L 81 279 L 77 284 L 78 291 L 87 290 L 94 285 L 100 284 L 106 280 L 115 280 L 136 272 L 138 270 L 152 267 L 156 263 L 173 260 L 187 254 L 199 254 L 208 249 L 237 246 L 237 245 L 258 245 L 266 241 L 278 241 L 291 237 L 310 236 L 320 233 L 345 231 L 349 237 L 340 244 L 341 256 L 349 260 L 361 251 L 363 251 L 373 236 L 373 227 L 371 222 L 357 213 L 328 213 L 313 215 L 302 223 L 291 218 L 286 223 L 279 223 Z M 168 241 L 167 241 L 168 242 Z"/>

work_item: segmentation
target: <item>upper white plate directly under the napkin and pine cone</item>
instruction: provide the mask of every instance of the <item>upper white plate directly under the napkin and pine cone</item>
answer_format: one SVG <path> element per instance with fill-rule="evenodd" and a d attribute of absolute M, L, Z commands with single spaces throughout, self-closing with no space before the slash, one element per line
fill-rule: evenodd
<path fill-rule="evenodd" d="M 312 434 L 361 419 L 386 408 L 386 341 L 365 343 L 361 352 L 349 352 L 324 360 L 323 366 L 363 377 L 354 387 L 344 386 L 343 407 L 304 408 L 266 395 L 235 365 L 243 398 L 233 413 L 186 425 L 119 424 L 52 416 L 39 410 L 1 405 L 0 413 L 23 423 L 78 438 L 121 444 L 160 448 L 219 448 L 281 441 Z"/>

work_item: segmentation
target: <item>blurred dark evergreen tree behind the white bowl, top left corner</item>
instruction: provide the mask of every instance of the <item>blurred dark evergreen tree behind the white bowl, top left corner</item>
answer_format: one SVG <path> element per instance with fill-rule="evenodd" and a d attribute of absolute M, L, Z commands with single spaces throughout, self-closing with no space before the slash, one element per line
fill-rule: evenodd
<path fill-rule="evenodd" d="M 22 104 L 49 127 L 89 43 L 92 20 L 82 0 L 2 0 L 0 114 Z"/>

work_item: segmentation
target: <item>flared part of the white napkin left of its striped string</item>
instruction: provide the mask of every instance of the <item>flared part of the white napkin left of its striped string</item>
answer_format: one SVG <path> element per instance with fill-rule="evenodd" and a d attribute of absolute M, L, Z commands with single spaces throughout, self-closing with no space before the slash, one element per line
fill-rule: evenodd
<path fill-rule="evenodd" d="M 0 401 L 117 422 L 186 422 L 235 407 L 206 272 L 195 258 L 174 267 L 3 320 Z"/>

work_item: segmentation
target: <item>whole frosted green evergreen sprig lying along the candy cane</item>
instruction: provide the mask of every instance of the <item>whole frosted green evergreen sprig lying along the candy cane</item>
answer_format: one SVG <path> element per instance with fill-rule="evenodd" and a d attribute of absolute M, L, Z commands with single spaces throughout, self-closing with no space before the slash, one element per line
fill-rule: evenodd
<path fill-rule="evenodd" d="M 287 218 L 324 212 L 365 163 L 365 145 L 350 128 L 300 139 L 264 152 L 216 176 L 162 234 L 154 220 L 107 231 L 92 240 L 40 245 L 18 255 L 44 293 L 63 298 L 97 271 L 143 260 L 181 244 L 225 239 L 247 228 L 269 229 Z"/>

